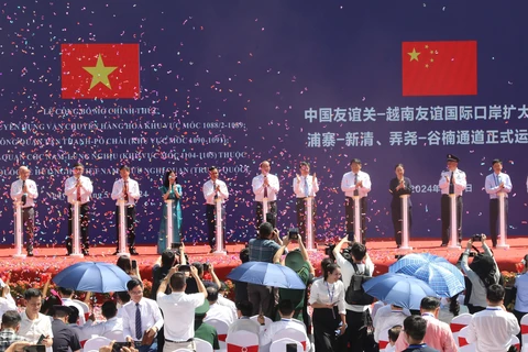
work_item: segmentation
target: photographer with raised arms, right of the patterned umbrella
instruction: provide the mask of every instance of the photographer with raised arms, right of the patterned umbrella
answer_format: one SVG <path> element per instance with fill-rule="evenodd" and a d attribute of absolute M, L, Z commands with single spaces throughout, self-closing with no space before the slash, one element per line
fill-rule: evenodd
<path fill-rule="evenodd" d="M 484 254 L 476 255 L 471 265 L 468 265 L 468 257 L 470 256 L 473 242 L 479 240 L 482 242 Z M 468 308 L 470 309 L 470 314 L 473 315 L 486 309 L 486 290 L 490 286 L 498 284 L 501 279 L 501 272 L 498 271 L 492 251 L 486 244 L 485 234 L 476 234 L 468 241 L 466 250 L 462 253 L 461 265 L 462 271 L 471 282 L 471 290 L 466 292 L 466 295 L 470 295 Z"/>

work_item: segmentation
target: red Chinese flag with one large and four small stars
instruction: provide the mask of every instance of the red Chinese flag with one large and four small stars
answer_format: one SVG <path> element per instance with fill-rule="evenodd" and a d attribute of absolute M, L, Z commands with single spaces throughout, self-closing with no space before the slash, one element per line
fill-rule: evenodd
<path fill-rule="evenodd" d="M 475 96 L 476 41 L 403 42 L 404 97 Z"/>

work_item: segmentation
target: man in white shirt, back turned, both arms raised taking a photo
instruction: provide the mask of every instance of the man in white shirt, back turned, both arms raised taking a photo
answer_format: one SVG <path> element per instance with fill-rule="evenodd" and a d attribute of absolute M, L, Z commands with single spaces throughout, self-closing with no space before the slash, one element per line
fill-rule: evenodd
<path fill-rule="evenodd" d="M 187 295 L 185 274 L 176 272 L 172 267 L 167 276 L 162 280 L 157 289 L 157 302 L 167 319 L 165 324 L 165 345 L 164 352 L 172 352 L 178 349 L 194 349 L 193 338 L 195 336 L 195 309 L 204 305 L 207 297 L 207 290 L 198 276 L 198 270 L 190 266 L 190 275 L 195 278 L 198 286 L 197 294 Z M 166 295 L 167 284 L 170 285 L 172 294 Z"/>

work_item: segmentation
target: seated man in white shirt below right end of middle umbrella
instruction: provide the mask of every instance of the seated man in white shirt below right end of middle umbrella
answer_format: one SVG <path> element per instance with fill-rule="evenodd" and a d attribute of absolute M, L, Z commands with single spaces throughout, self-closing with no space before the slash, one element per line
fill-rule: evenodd
<path fill-rule="evenodd" d="M 272 322 L 267 328 L 262 339 L 260 341 L 260 351 L 270 351 L 270 345 L 272 344 L 275 334 L 278 331 L 283 331 L 285 329 L 293 329 L 299 331 L 302 334 L 302 341 L 305 351 L 310 351 L 310 339 L 306 334 L 306 327 L 305 324 L 297 320 L 292 319 L 295 312 L 294 304 L 289 299 L 285 299 L 278 304 L 278 314 L 280 315 L 279 321 Z M 299 334 L 300 336 L 300 334 Z"/>

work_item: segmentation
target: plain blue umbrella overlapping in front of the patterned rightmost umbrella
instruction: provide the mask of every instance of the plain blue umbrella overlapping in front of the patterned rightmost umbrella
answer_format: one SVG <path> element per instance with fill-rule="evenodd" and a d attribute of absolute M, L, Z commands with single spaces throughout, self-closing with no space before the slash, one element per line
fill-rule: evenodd
<path fill-rule="evenodd" d="M 363 284 L 363 289 L 386 304 L 408 309 L 420 309 L 424 297 L 437 296 L 432 288 L 421 279 L 394 273 L 371 278 Z"/>

